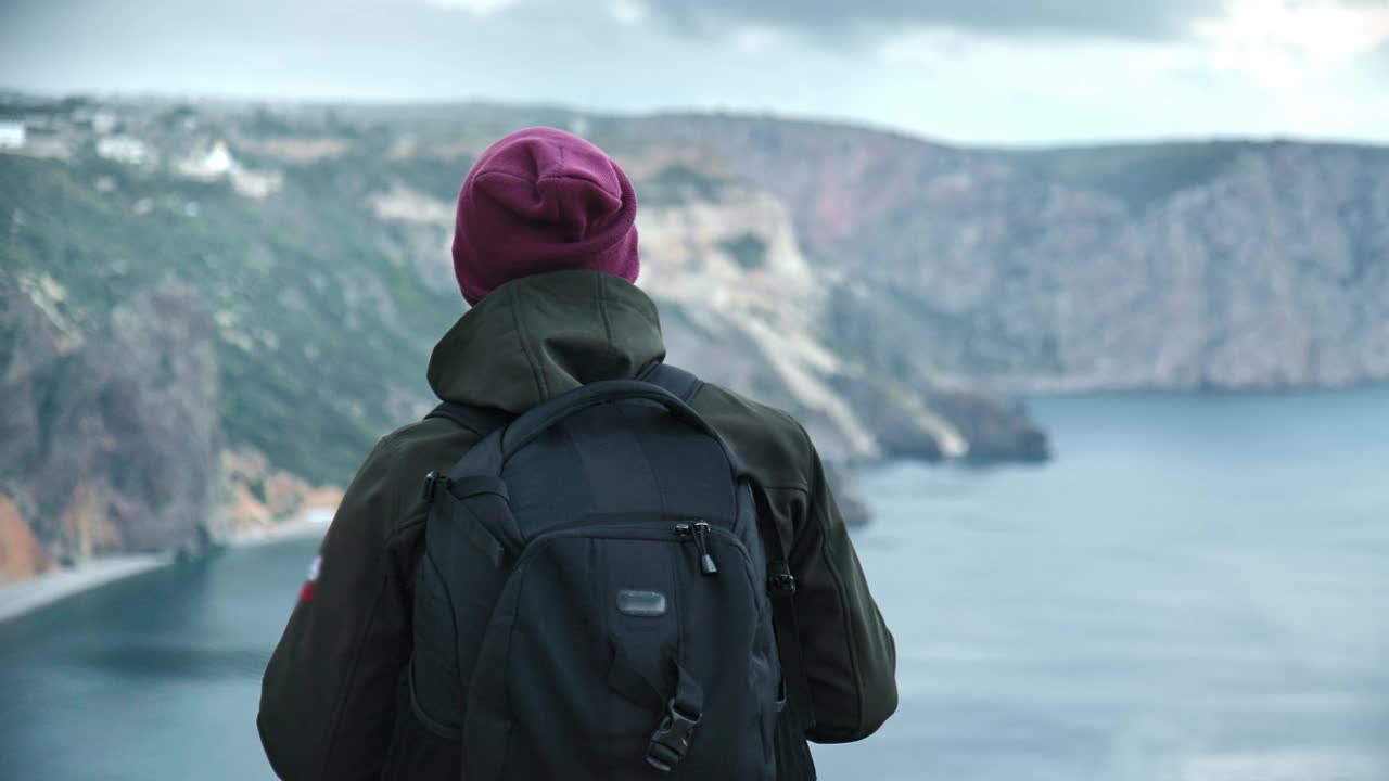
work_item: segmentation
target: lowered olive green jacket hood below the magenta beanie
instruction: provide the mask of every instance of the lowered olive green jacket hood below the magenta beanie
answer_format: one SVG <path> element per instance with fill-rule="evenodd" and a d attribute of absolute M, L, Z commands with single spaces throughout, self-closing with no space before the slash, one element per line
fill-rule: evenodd
<path fill-rule="evenodd" d="M 429 386 L 444 402 L 519 414 L 664 357 L 646 293 L 601 271 L 556 271 L 507 282 L 458 318 L 429 359 Z"/>

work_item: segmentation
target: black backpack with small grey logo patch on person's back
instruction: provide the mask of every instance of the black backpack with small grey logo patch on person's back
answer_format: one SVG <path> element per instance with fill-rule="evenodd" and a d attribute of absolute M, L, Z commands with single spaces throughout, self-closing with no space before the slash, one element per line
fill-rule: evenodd
<path fill-rule="evenodd" d="M 814 778 L 795 578 L 700 386 L 656 364 L 431 413 L 483 439 L 425 478 L 386 778 Z"/>

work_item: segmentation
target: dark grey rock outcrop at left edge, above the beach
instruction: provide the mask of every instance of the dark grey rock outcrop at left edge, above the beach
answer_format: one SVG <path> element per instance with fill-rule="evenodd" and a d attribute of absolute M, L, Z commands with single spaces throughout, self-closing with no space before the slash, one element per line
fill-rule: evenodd
<path fill-rule="evenodd" d="M 43 541 L 40 561 L 215 536 L 218 375 L 196 296 L 154 288 L 90 331 L 51 277 L 21 275 L 0 302 L 0 492 Z"/>

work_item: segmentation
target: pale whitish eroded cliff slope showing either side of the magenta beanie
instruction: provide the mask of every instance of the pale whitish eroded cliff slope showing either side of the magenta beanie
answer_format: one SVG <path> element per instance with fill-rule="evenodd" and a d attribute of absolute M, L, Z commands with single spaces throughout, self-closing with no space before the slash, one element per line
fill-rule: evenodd
<path fill-rule="evenodd" d="M 663 140 L 617 145 L 642 199 L 640 283 L 660 303 L 674 361 L 790 410 L 833 460 L 1046 457 L 1045 435 L 1015 410 L 976 396 L 950 407 L 964 414 L 950 420 L 932 413 L 928 378 L 897 382 L 838 349 L 825 325 L 839 277 L 806 257 L 786 204 L 733 175 L 717 153 Z M 389 157 L 465 171 L 476 151 L 415 140 L 392 146 Z M 392 227 L 400 263 L 417 258 L 424 283 L 451 290 L 447 263 L 418 260 L 446 258 L 453 231 L 453 203 L 425 185 L 397 175 L 367 203 Z"/>

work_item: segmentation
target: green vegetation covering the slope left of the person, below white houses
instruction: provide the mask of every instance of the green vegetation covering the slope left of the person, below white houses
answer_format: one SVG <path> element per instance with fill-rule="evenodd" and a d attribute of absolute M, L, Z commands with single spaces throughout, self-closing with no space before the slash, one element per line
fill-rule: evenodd
<path fill-rule="evenodd" d="M 253 200 L 94 156 L 4 156 L 0 274 L 51 278 L 88 339 L 139 290 L 192 286 L 218 324 L 229 439 L 343 484 L 428 397 L 428 349 L 463 310 L 381 249 L 361 196 L 397 174 L 364 154 L 290 170 L 282 193 Z"/>

